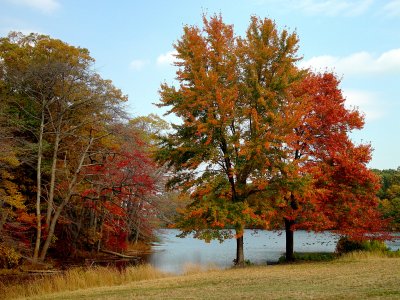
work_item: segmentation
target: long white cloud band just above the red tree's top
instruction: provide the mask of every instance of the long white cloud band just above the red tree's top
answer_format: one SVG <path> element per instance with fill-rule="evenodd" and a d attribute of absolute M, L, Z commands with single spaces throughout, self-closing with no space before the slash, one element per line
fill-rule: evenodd
<path fill-rule="evenodd" d="M 301 68 L 335 71 L 339 75 L 400 74 L 400 48 L 374 56 L 357 52 L 345 57 L 322 55 L 301 61 Z"/>

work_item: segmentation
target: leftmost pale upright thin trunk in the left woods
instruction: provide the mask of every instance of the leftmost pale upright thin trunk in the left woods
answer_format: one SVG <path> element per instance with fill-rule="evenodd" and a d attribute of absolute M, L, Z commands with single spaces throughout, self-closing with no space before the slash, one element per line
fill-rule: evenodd
<path fill-rule="evenodd" d="M 37 262 L 39 258 L 40 242 L 42 239 L 42 152 L 43 152 L 43 132 L 44 132 L 44 102 L 42 104 L 42 116 L 40 120 L 39 141 L 38 141 L 38 159 L 36 166 L 36 242 L 33 252 L 33 261 Z"/>

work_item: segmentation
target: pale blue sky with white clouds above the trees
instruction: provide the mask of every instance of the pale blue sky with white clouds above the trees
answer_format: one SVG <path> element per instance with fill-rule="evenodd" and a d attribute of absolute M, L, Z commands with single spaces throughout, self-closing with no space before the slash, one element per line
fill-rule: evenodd
<path fill-rule="evenodd" d="M 87 48 L 133 116 L 162 115 L 152 103 L 173 82 L 172 43 L 202 13 L 221 13 L 238 35 L 251 15 L 296 30 L 301 65 L 336 72 L 347 105 L 365 113 L 352 138 L 372 144 L 369 166 L 400 166 L 400 0 L 0 0 L 0 36 L 39 32 Z"/>

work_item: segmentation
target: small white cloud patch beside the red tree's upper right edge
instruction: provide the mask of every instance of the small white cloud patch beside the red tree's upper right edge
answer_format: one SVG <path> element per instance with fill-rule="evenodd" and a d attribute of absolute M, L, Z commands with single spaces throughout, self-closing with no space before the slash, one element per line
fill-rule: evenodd
<path fill-rule="evenodd" d="M 346 97 L 346 106 L 348 108 L 357 108 L 365 114 L 367 122 L 380 119 L 384 116 L 384 108 L 380 105 L 382 102 L 379 95 L 373 92 L 361 90 L 343 90 Z"/>

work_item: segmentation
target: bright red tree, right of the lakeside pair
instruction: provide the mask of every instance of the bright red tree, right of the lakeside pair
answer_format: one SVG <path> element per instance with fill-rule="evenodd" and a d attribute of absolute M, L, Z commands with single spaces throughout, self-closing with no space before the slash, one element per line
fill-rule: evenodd
<path fill-rule="evenodd" d="M 287 260 L 293 260 L 296 228 L 336 230 L 352 238 L 383 228 L 377 178 L 366 167 L 371 147 L 356 146 L 349 138 L 363 127 L 363 117 L 345 107 L 339 80 L 331 73 L 309 72 L 291 92 L 293 105 L 286 113 L 296 115 L 296 122 L 282 145 L 286 155 L 267 197 L 275 227 L 284 220 Z"/>

